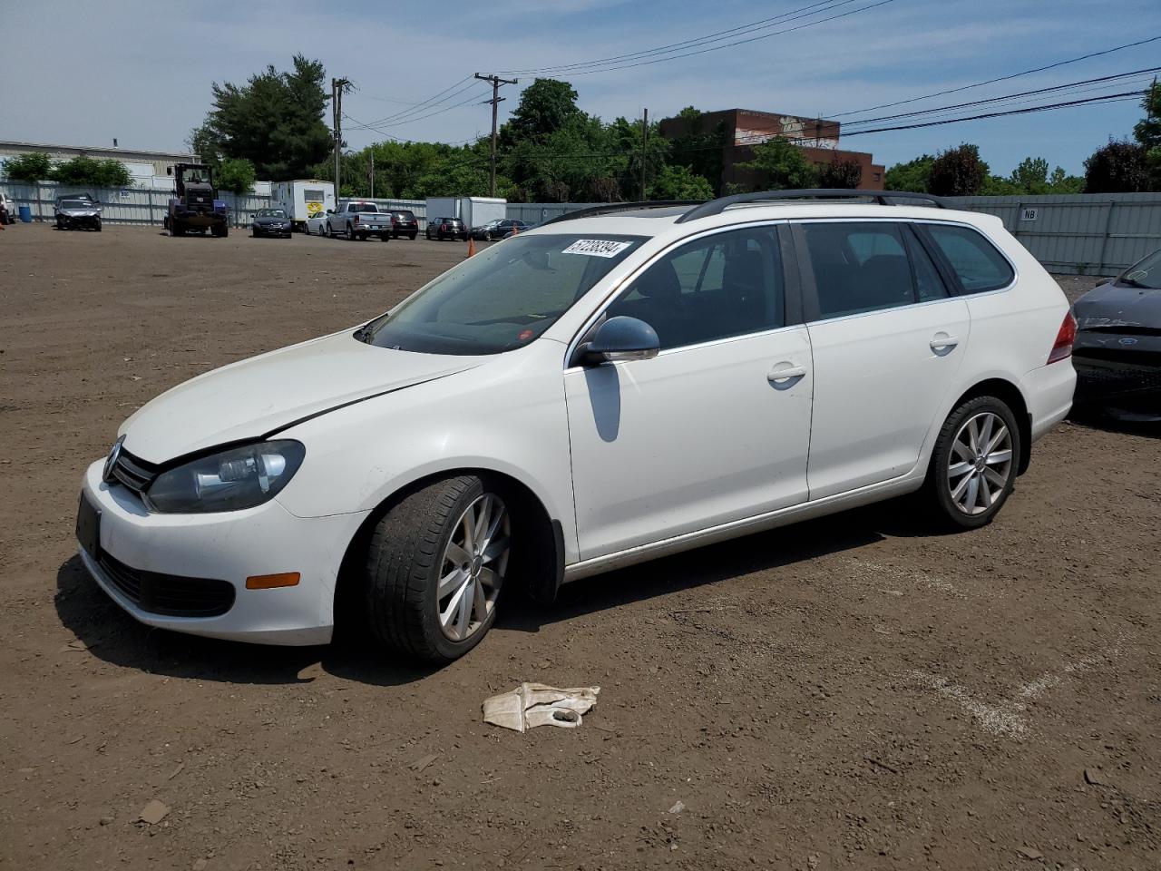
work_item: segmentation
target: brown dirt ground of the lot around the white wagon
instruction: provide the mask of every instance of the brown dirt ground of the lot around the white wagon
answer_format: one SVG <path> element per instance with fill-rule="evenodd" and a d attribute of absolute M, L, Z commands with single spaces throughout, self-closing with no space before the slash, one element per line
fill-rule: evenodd
<path fill-rule="evenodd" d="M 463 253 L 0 233 L 0 869 L 1161 866 L 1156 432 L 1062 425 L 978 532 L 888 504 L 511 599 L 441 670 L 152 631 L 86 577 L 135 408 Z M 520 681 L 600 700 L 482 725 Z"/>

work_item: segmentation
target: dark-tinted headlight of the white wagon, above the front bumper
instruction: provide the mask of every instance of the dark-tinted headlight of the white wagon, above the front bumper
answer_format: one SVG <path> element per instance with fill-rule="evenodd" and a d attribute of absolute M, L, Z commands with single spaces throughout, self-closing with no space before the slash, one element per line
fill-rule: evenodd
<path fill-rule="evenodd" d="M 145 491 L 161 513 L 240 511 L 273 499 L 302 466 L 298 441 L 261 441 L 187 462 L 161 475 Z"/>

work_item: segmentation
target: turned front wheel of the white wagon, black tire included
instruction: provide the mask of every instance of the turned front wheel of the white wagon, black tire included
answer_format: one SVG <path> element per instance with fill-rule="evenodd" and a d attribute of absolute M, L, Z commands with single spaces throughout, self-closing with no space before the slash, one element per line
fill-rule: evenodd
<path fill-rule="evenodd" d="M 483 528 L 491 527 L 491 534 L 474 539 L 466 552 L 469 512 L 477 523 L 488 517 Z M 463 656 L 496 620 L 511 530 L 506 501 L 475 475 L 438 481 L 396 504 L 378 521 L 367 550 L 363 593 L 372 634 L 417 660 Z M 460 559 L 466 561 L 456 567 Z M 442 596 L 441 578 L 449 580 Z"/>

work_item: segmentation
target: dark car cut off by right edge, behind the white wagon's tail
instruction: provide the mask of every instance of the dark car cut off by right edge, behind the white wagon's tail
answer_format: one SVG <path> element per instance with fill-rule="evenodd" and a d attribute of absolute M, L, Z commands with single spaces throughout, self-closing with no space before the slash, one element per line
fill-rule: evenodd
<path fill-rule="evenodd" d="M 1122 420 L 1161 420 L 1161 251 L 1073 304 L 1074 404 Z"/>

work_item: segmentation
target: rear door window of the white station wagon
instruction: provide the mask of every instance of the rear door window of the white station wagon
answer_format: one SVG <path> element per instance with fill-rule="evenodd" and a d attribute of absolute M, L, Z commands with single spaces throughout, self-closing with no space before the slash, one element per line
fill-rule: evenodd
<path fill-rule="evenodd" d="M 900 224 L 800 225 L 814 272 L 819 317 L 844 317 L 947 295 L 930 258 Z"/>

